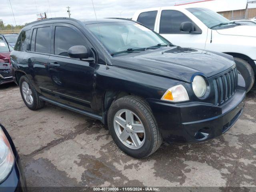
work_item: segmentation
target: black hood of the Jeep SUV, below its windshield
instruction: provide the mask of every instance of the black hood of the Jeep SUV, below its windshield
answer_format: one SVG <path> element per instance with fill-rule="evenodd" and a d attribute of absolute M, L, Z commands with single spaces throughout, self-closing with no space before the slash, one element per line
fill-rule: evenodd
<path fill-rule="evenodd" d="M 112 64 L 192 82 L 195 75 L 205 78 L 232 67 L 234 59 L 227 54 L 179 46 L 129 53 L 112 58 Z"/>

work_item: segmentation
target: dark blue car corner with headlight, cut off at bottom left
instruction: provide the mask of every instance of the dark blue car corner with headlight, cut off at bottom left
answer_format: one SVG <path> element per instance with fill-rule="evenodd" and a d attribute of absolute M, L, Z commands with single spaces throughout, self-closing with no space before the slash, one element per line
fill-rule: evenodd
<path fill-rule="evenodd" d="M 2 124 L 0 124 L 0 191 L 27 191 L 18 152 Z"/>

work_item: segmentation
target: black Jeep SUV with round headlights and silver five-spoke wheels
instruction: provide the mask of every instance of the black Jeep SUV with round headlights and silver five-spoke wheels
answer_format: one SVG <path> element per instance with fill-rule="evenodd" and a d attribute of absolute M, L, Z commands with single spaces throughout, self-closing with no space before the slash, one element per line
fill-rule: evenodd
<path fill-rule="evenodd" d="M 174 46 L 133 21 L 33 22 L 10 58 L 28 108 L 50 102 L 98 119 L 135 158 L 163 139 L 220 136 L 244 108 L 245 83 L 232 56 Z"/>

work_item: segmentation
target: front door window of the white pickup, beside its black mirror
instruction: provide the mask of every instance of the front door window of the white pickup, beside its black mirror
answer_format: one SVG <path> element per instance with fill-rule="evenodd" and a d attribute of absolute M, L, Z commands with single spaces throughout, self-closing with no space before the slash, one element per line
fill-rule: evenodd
<path fill-rule="evenodd" d="M 182 22 L 192 22 L 185 14 L 175 10 L 163 10 L 160 19 L 160 34 L 179 34 Z"/>

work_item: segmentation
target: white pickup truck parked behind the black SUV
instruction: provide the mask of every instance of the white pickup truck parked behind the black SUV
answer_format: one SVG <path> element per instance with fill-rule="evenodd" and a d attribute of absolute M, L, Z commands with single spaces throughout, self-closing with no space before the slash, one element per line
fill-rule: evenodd
<path fill-rule="evenodd" d="M 206 8 L 180 6 L 139 10 L 132 20 L 158 32 L 172 44 L 232 55 L 246 82 L 246 91 L 252 88 L 256 74 L 256 26 L 240 25 Z"/>

